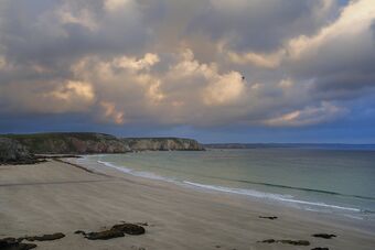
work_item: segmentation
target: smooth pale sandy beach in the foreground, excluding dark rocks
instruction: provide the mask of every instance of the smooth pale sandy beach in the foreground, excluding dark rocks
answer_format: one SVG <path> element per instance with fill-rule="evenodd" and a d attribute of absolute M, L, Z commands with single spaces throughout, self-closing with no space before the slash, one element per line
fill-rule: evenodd
<path fill-rule="evenodd" d="M 87 167 L 92 172 L 52 160 L 0 166 L 0 238 L 66 235 L 36 242 L 41 250 L 375 248 L 374 227 L 365 221 L 201 192 L 99 165 Z M 103 230 L 121 221 L 147 222 L 146 233 L 109 240 L 88 240 L 74 233 Z M 311 236 L 322 232 L 338 237 Z M 258 242 L 267 239 L 308 240 L 310 246 Z"/>

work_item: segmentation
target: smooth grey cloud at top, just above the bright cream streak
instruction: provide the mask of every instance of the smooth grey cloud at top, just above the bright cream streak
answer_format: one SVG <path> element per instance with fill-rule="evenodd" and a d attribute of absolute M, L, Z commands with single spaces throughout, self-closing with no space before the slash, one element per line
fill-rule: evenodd
<path fill-rule="evenodd" d="M 212 0 L 189 26 L 238 51 L 274 51 L 296 35 L 319 31 L 335 14 L 334 1 Z"/>

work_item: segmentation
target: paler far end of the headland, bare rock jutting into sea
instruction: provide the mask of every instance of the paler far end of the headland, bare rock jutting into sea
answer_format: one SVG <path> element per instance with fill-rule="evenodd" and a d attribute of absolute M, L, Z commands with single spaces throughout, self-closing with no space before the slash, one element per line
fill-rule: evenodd
<path fill-rule="evenodd" d="M 132 151 L 200 151 L 203 146 L 195 140 L 181 138 L 126 138 L 122 141 Z"/>

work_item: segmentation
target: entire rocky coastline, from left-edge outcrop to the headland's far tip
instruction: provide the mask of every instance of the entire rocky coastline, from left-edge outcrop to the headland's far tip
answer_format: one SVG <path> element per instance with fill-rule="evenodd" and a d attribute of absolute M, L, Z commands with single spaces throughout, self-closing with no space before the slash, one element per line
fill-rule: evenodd
<path fill-rule="evenodd" d="M 202 150 L 197 141 L 184 138 L 117 138 L 92 132 L 0 134 L 0 164 L 38 163 L 36 155 L 43 154 Z"/>

